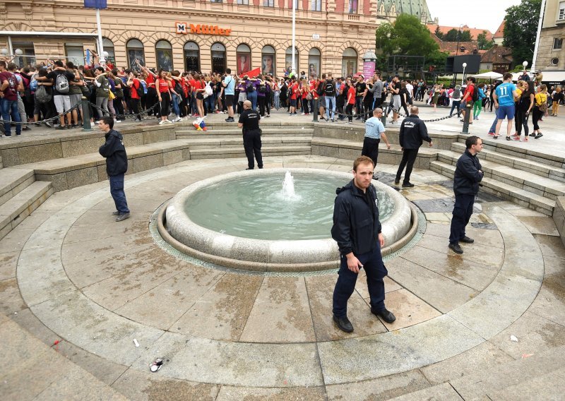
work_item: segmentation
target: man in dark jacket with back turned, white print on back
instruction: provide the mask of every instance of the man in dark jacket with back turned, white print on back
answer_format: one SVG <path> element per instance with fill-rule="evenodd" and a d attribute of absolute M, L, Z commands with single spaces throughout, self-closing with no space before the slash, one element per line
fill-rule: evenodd
<path fill-rule="evenodd" d="M 400 166 L 398 166 L 398 171 L 396 172 L 394 184 L 400 184 L 400 176 L 402 175 L 404 167 L 406 167 L 406 174 L 402 183 L 403 188 L 412 188 L 412 186 L 414 186 L 414 184 L 410 183 L 410 174 L 412 174 L 412 167 L 414 166 L 418 149 L 422 146 L 422 142 L 424 140 L 429 142 L 430 148 L 434 145 L 432 138 L 428 136 L 426 124 L 418 117 L 418 112 L 419 110 L 416 106 L 410 107 L 410 116 L 405 118 L 404 121 L 402 121 L 402 125 L 400 125 L 398 140 L 400 141 L 403 154 Z"/>

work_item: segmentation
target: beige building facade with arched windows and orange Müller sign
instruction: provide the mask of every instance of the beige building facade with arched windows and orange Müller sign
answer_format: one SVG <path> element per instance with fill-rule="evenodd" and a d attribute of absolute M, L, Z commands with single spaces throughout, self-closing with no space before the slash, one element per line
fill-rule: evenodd
<path fill-rule="evenodd" d="M 296 68 L 309 75 L 362 71 L 375 30 L 395 18 L 377 0 L 295 0 Z M 281 76 L 292 62 L 292 0 L 108 0 L 104 51 L 118 67 Z M 0 49 L 21 66 L 97 49 L 95 10 L 81 0 L 0 1 Z M 21 55 L 20 55 L 21 54 Z"/>

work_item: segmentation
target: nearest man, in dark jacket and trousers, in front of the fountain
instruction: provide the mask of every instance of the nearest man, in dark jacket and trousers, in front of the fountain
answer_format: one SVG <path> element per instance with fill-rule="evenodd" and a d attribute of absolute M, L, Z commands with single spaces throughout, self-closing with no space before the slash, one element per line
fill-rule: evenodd
<path fill-rule="evenodd" d="M 357 157 L 353 164 L 353 179 L 337 189 L 333 208 L 331 236 L 338 243 L 341 258 L 338 282 L 333 290 L 333 321 L 346 333 L 353 331 L 347 318 L 347 300 L 355 289 L 359 268 L 364 268 L 367 274 L 371 313 L 387 323 L 396 320 L 384 306 L 383 278 L 387 271 L 381 256 L 384 237 L 378 200 L 371 185 L 373 169 L 373 161 L 369 157 Z"/>

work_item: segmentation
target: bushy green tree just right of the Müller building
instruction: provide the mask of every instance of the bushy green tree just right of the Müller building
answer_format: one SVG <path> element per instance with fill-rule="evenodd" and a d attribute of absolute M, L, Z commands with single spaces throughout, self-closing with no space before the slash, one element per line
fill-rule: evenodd
<path fill-rule="evenodd" d="M 446 54 L 420 20 L 409 14 L 400 14 L 394 23 L 383 23 L 376 30 L 376 49 L 380 50 L 379 66 L 383 68 L 388 56 L 424 56 L 426 64 L 445 64 Z"/>

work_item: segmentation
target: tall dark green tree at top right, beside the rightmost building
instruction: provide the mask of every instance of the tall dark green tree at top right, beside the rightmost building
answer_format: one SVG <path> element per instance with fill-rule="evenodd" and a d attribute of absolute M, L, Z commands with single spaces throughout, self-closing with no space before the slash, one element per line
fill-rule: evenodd
<path fill-rule="evenodd" d="M 542 0 L 522 0 L 518 6 L 506 8 L 503 45 L 511 49 L 514 65 L 522 61 L 532 64 L 541 7 Z"/>

